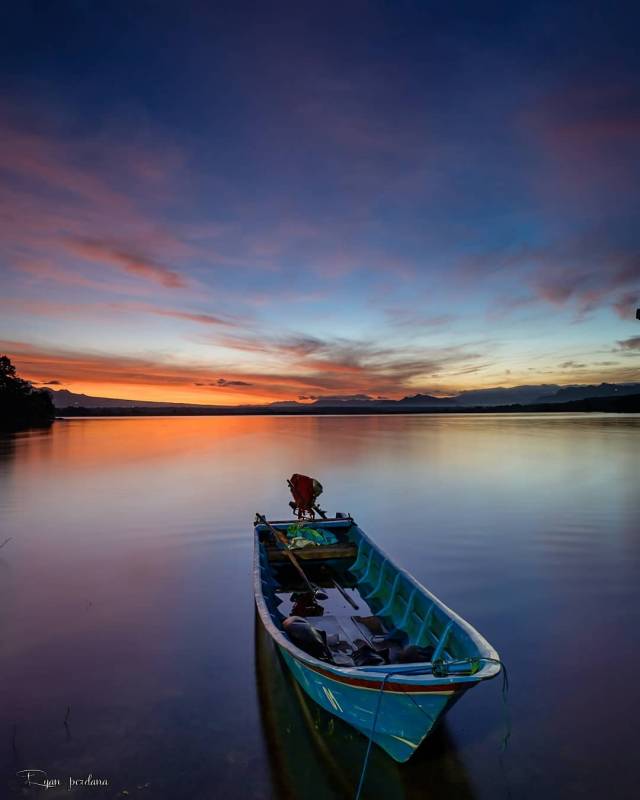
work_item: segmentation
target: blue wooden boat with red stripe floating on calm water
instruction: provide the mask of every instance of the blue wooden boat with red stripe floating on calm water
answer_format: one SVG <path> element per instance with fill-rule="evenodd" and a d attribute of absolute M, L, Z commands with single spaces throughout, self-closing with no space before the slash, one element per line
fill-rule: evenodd
<path fill-rule="evenodd" d="M 278 541 L 292 524 L 255 525 L 262 624 L 313 700 L 396 761 L 407 761 L 466 691 L 500 672 L 498 654 L 346 515 L 307 523 L 331 532 L 335 544 L 293 551 L 322 589 L 318 602 Z M 286 632 L 292 617 L 306 620 L 326 643 L 320 655 Z M 359 661 L 363 653 L 368 663 Z M 411 660 L 414 654 L 419 660 Z"/>

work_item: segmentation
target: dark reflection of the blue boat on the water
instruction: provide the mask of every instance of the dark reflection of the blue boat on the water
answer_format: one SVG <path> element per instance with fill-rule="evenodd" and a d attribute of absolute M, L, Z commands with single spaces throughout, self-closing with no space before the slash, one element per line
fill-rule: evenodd
<path fill-rule="evenodd" d="M 353 798 L 367 741 L 302 691 L 255 615 L 256 684 L 274 795 L 283 800 Z M 446 723 L 406 764 L 374 747 L 367 800 L 472 800 L 474 792 Z"/>

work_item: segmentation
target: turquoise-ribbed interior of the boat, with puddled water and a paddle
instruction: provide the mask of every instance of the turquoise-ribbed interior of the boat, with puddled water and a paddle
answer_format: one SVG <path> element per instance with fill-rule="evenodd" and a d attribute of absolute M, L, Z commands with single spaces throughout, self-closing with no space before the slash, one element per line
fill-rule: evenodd
<path fill-rule="evenodd" d="M 273 523 L 286 533 L 291 523 Z M 322 523 L 336 541 L 294 549 L 309 591 L 284 546 L 258 526 L 263 596 L 274 623 L 301 649 L 337 666 L 456 662 L 479 657 L 475 642 L 351 520 Z M 452 672 L 479 667 L 452 664 Z"/>

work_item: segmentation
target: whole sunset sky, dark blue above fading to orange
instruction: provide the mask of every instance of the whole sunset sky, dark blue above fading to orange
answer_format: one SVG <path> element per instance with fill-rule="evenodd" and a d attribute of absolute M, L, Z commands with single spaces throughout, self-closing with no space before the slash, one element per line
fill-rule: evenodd
<path fill-rule="evenodd" d="M 636 4 L 1 15 L 0 352 L 36 385 L 640 380 Z"/>

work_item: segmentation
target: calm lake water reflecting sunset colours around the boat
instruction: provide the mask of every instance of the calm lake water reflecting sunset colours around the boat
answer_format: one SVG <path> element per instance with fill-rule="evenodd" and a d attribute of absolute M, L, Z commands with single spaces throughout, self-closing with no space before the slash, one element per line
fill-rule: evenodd
<path fill-rule="evenodd" d="M 637 798 L 640 416 L 147 418 L 0 439 L 0 761 L 148 800 L 353 796 L 365 741 L 255 626 L 251 523 L 285 478 L 509 668 L 367 798 Z M 67 715 L 67 726 L 64 725 Z M 36 796 L 31 789 L 26 796 Z M 70 795 L 49 790 L 46 797 Z"/>

